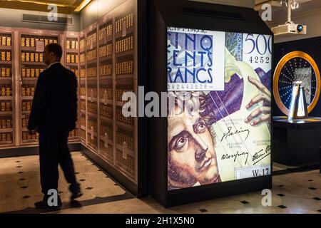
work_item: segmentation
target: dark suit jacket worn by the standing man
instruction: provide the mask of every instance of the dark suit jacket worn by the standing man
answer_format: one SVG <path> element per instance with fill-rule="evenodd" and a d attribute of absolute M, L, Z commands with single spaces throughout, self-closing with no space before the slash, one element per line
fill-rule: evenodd
<path fill-rule="evenodd" d="M 39 75 L 28 129 L 59 134 L 76 128 L 77 79 L 61 63 L 54 63 Z"/>

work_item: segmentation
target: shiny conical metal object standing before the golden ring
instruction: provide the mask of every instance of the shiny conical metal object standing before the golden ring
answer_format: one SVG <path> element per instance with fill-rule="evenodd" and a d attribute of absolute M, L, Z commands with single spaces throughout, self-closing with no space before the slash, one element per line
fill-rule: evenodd
<path fill-rule="evenodd" d="M 302 88 L 301 83 L 302 81 L 295 81 L 293 83 L 289 120 L 305 119 L 308 115 L 305 90 Z"/>

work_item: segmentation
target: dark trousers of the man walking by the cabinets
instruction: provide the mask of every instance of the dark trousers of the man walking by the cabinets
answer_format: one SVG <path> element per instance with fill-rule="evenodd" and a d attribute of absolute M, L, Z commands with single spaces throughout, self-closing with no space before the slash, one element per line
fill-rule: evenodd
<path fill-rule="evenodd" d="M 68 132 L 56 134 L 39 134 L 39 157 L 41 192 L 48 194 L 51 189 L 58 190 L 58 165 L 61 166 L 66 180 L 72 187 L 76 187 L 76 175 L 73 160 L 68 148 Z"/>

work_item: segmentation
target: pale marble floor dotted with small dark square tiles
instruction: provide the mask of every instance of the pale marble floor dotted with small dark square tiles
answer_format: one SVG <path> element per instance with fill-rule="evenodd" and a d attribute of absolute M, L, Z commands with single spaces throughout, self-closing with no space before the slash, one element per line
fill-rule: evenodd
<path fill-rule="evenodd" d="M 275 175 L 270 207 L 263 207 L 261 192 L 251 192 L 165 209 L 151 197 L 133 197 L 80 152 L 72 156 L 84 195 L 77 204 L 69 203 L 68 184 L 60 170 L 63 207 L 50 213 L 321 213 L 319 170 Z M 0 213 L 45 213 L 34 209 L 41 197 L 39 156 L 0 159 Z"/>

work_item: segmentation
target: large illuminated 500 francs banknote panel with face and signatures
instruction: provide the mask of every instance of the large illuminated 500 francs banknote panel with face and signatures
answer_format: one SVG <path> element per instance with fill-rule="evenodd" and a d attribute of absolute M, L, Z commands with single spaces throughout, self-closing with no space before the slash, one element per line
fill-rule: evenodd
<path fill-rule="evenodd" d="M 272 36 L 168 28 L 168 190 L 270 175 Z"/>

